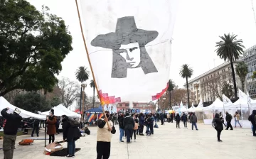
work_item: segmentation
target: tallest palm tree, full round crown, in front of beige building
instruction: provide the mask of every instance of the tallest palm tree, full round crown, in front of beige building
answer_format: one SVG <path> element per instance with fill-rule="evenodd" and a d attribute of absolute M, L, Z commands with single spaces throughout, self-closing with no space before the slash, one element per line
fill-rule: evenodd
<path fill-rule="evenodd" d="M 220 42 L 216 42 L 217 49 L 215 50 L 220 59 L 230 61 L 236 99 L 238 98 L 238 90 L 236 89 L 233 62 L 238 60 L 239 56 L 243 53 L 242 48 L 245 48 L 245 46 L 242 45 L 242 40 L 236 39 L 237 36 L 238 35 L 234 34 L 230 35 L 230 33 L 228 33 L 228 35 L 224 34 L 224 36 L 220 36 L 222 40 L 220 40 Z"/>

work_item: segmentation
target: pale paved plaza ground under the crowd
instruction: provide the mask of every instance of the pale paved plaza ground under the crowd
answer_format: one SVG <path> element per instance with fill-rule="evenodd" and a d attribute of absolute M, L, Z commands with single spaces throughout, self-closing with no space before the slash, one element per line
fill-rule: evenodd
<path fill-rule="evenodd" d="M 176 128 L 176 124 L 159 124 L 154 129 L 152 136 L 137 136 L 137 142 L 131 144 L 119 142 L 119 128 L 112 136 L 111 159 L 255 159 L 256 137 L 252 136 L 250 129 L 234 128 L 234 131 L 223 131 L 221 139 L 223 143 L 217 142 L 216 131 L 212 126 L 198 124 L 199 131 L 189 128 Z M 76 142 L 77 148 L 82 148 L 75 153 L 75 158 L 96 158 L 96 133 L 97 127 L 90 127 L 91 135 L 80 138 Z M 43 136 L 43 133 L 41 133 Z M 29 136 L 18 136 L 17 142 Z M 62 134 L 55 136 L 55 141 L 62 141 Z M 48 142 L 47 142 L 48 143 Z M 67 143 L 63 144 L 65 148 Z M 2 147 L 2 141 L 0 141 Z M 18 146 L 14 151 L 14 159 L 46 159 L 60 158 L 43 155 L 44 141 L 35 141 L 31 146 Z M 3 158 L 3 151 L 0 152 Z"/>

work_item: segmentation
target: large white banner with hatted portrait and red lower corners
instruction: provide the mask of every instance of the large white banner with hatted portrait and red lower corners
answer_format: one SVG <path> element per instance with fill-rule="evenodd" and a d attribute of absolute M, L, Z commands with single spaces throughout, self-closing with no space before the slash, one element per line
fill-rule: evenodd
<path fill-rule="evenodd" d="M 103 102 L 149 102 L 165 92 L 177 1 L 80 0 Z"/>

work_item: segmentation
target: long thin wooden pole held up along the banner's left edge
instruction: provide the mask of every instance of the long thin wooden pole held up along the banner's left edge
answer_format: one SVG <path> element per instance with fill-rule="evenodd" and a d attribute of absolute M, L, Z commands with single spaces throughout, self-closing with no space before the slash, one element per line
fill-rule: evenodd
<path fill-rule="evenodd" d="M 95 88 L 96 88 L 98 97 L 100 98 L 99 89 L 98 89 L 97 83 L 96 83 L 96 81 L 95 81 L 95 75 L 94 75 L 94 72 L 93 72 L 93 70 L 92 70 L 92 64 L 91 64 L 91 62 L 90 62 L 90 56 L 89 56 L 89 53 L 88 53 L 88 50 L 87 50 L 87 45 L 86 45 L 86 42 L 85 42 L 85 35 L 84 35 L 84 33 L 83 33 L 83 30 L 82 30 L 82 22 L 81 22 L 80 12 L 79 12 L 79 8 L 78 8 L 78 0 L 75 0 L 75 4 L 76 4 L 77 10 L 78 10 L 78 18 L 79 18 L 80 29 L 81 29 L 81 33 L 82 33 L 82 40 L 83 40 L 84 45 L 85 45 L 85 51 L 86 51 L 87 59 L 88 59 L 89 65 L 90 65 L 90 69 L 91 69 L 91 71 L 92 71 L 93 82 L 95 83 Z M 100 103 L 102 103 L 101 98 L 100 98 Z M 102 111 L 103 111 L 103 114 L 104 114 L 104 116 L 105 116 L 105 119 L 107 119 L 105 110 L 102 109 Z M 108 128 L 110 128 L 110 124 L 109 124 L 108 122 L 107 122 L 107 126 L 108 126 Z"/>

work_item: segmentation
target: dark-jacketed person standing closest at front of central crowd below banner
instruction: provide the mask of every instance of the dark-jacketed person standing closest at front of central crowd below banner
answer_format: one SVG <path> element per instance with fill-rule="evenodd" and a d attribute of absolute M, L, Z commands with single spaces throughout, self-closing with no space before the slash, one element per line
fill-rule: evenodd
<path fill-rule="evenodd" d="M 132 116 L 129 115 L 129 113 L 125 114 L 124 117 L 124 131 L 127 136 L 127 143 L 131 143 L 131 136 L 134 128 L 134 119 Z"/>

